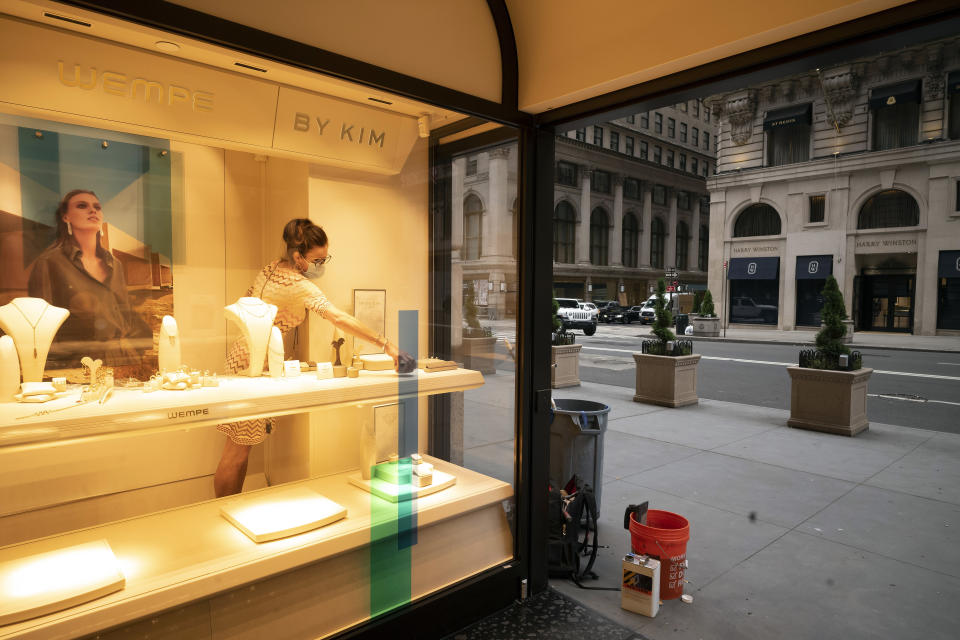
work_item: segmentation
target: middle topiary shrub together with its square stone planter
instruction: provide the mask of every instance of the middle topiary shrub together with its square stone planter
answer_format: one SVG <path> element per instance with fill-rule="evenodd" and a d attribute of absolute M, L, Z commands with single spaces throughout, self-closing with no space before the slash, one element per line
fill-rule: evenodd
<path fill-rule="evenodd" d="M 697 363 L 700 355 L 693 353 L 693 343 L 677 340 L 670 330 L 673 314 L 667 307 L 666 285 L 657 282 L 654 303 L 653 335 L 655 340 L 644 340 L 641 353 L 633 354 L 637 366 L 634 402 L 647 402 L 665 407 L 682 407 L 699 402 L 697 398 Z"/>

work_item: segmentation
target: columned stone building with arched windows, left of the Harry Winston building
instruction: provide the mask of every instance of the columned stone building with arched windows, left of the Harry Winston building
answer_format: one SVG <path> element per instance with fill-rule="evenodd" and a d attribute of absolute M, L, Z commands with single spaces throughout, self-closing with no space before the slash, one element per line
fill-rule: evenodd
<path fill-rule="evenodd" d="M 711 120 L 691 100 L 557 136 L 557 296 L 638 304 L 670 269 L 679 288 L 706 286 Z M 515 308 L 516 165 L 515 144 L 453 164 L 455 264 L 494 319 Z"/>

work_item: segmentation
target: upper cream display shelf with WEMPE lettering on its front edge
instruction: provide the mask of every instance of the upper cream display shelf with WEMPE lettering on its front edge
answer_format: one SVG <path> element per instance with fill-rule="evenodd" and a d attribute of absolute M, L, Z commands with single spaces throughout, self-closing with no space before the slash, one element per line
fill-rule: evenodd
<path fill-rule="evenodd" d="M 43 404 L 0 403 L 0 446 L 60 438 L 299 413 L 361 402 L 466 391 L 483 384 L 478 371 L 456 369 L 399 375 L 361 371 L 357 378 L 222 377 L 218 387 L 187 391 L 117 388 L 104 404 L 76 405 L 79 390 Z M 58 410 L 34 416 L 38 411 Z M 32 416 L 32 417 L 30 417 Z"/>

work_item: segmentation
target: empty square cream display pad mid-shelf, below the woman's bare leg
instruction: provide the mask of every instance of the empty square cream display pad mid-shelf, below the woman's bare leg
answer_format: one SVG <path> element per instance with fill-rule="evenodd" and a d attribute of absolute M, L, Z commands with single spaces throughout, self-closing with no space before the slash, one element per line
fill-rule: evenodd
<path fill-rule="evenodd" d="M 336 522 L 347 509 L 316 491 L 292 487 L 230 500 L 220 513 L 254 542 L 267 542 Z"/>

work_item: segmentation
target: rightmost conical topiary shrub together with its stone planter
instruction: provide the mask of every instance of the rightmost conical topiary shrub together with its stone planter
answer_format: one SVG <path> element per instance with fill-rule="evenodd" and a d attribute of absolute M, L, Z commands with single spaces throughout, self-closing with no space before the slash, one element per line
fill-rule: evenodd
<path fill-rule="evenodd" d="M 800 366 L 790 374 L 790 419 L 787 425 L 845 436 L 866 431 L 867 382 L 873 369 L 862 366 L 858 351 L 844 344 L 847 319 L 843 295 L 833 276 L 823 288 L 823 327 L 816 349 L 800 352 Z"/>

